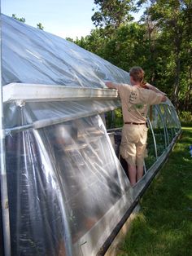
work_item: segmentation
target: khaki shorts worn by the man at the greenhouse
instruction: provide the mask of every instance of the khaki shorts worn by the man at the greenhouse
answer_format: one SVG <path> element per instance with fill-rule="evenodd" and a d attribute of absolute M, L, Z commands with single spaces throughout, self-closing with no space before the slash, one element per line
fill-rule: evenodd
<path fill-rule="evenodd" d="M 124 125 L 120 143 L 120 155 L 131 166 L 143 166 L 146 157 L 146 125 Z"/>

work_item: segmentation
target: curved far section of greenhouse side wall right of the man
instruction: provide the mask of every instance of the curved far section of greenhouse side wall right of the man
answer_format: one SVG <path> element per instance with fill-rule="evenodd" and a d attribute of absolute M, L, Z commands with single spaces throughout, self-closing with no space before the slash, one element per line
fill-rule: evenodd
<path fill-rule="evenodd" d="M 181 131 L 177 112 L 170 102 L 152 106 L 148 123 L 146 170 L 168 152 L 168 147 Z"/>

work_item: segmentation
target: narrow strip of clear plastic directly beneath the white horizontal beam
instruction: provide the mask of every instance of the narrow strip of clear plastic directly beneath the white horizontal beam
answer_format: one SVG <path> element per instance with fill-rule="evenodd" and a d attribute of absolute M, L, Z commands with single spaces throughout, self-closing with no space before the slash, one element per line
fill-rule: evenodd
<path fill-rule="evenodd" d="M 120 100 L 86 99 L 59 102 L 11 102 L 4 104 L 7 130 L 17 126 L 35 128 L 107 112 L 120 106 Z M 24 127 L 23 127 L 24 128 Z"/>

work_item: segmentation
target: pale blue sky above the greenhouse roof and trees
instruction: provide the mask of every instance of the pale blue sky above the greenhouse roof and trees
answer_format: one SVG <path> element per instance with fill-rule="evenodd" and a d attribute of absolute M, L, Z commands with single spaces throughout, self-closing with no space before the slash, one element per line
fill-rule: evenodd
<path fill-rule="evenodd" d="M 81 38 L 94 29 L 94 0 L 1 0 L 2 13 L 25 18 L 25 23 L 61 38 Z M 136 17 L 137 20 L 137 17 Z"/>

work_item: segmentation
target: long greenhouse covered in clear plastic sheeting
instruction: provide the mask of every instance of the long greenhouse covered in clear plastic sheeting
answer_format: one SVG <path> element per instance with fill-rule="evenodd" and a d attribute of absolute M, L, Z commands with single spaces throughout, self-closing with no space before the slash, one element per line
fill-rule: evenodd
<path fill-rule="evenodd" d="M 105 81 L 129 83 L 129 73 L 2 15 L 0 255 L 105 254 L 167 159 L 181 133 L 170 100 L 149 109 L 145 174 L 130 186 L 119 153 L 120 99 Z"/>

